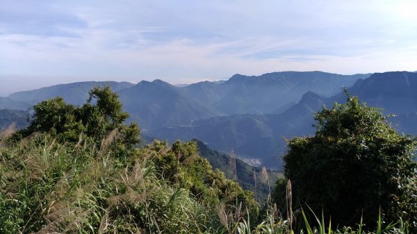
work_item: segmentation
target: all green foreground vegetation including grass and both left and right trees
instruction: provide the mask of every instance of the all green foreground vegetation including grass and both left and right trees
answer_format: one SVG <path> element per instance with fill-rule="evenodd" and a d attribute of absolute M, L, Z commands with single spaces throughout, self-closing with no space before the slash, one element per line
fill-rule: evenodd
<path fill-rule="evenodd" d="M 292 140 L 286 156 L 286 176 L 293 180 L 294 187 L 291 189 L 291 183 L 288 182 L 286 190 L 279 190 L 285 184 L 281 183 L 284 180 L 277 184 L 276 201 L 286 201 L 286 208 L 280 210 L 272 203 L 270 194 L 265 203 L 259 204 L 252 192 L 243 190 L 219 170 L 213 170 L 208 160 L 198 155 L 195 141 L 177 141 L 170 147 L 165 142 L 155 141 L 138 148 L 138 126 L 124 124 L 128 115 L 122 112 L 117 95 L 109 87 L 92 89 L 88 103 L 83 106 L 72 106 L 60 98 L 42 101 L 33 108 L 32 122 L 28 128 L 1 134 L 0 233 L 284 234 L 295 231 L 313 233 L 313 225 L 317 228 L 316 233 L 413 233 L 416 228 L 416 202 L 413 200 L 416 198 L 413 187 L 416 183 L 416 164 L 407 157 L 416 142 L 395 133 L 393 128 L 384 123 L 384 118 L 377 110 L 369 110 L 354 100 L 347 104 L 350 108 L 335 106 L 334 109 L 323 110 L 317 116 L 317 137 Z M 370 128 L 352 124 L 355 118 L 363 120 L 363 124 Z M 373 126 L 383 131 L 374 135 Z M 326 197 L 328 193 L 339 191 L 332 186 L 337 185 L 335 181 L 339 178 L 339 172 L 343 172 L 343 168 L 350 168 L 350 164 L 341 163 L 334 170 L 334 167 L 327 166 L 320 169 L 320 160 L 317 165 L 310 163 L 311 157 L 317 158 L 322 153 L 329 154 L 324 159 L 338 156 L 332 149 L 338 149 L 339 142 L 340 149 L 347 153 L 340 155 L 341 160 L 352 156 L 351 151 L 344 151 L 346 147 L 352 150 L 357 147 L 361 156 L 363 150 L 368 150 L 362 147 L 363 142 L 349 138 L 345 144 L 338 140 L 338 135 L 332 138 L 332 135 L 327 134 L 335 132 L 342 134 L 341 138 L 345 137 L 343 134 L 357 137 L 357 131 L 364 131 L 366 146 L 376 141 L 375 144 L 382 144 L 376 147 L 384 149 L 379 152 L 369 146 L 373 154 L 369 154 L 370 160 L 363 164 L 364 172 L 375 169 L 382 174 L 376 178 L 373 178 L 373 174 L 363 177 L 361 185 L 364 187 L 345 194 L 352 197 L 357 195 L 354 192 L 368 194 L 368 197 L 363 198 L 366 201 L 375 199 L 371 207 L 373 210 L 378 209 L 375 207 L 378 204 L 381 206 L 382 215 L 370 212 L 364 216 L 369 224 L 365 227 L 360 219 L 356 222 L 341 219 L 347 217 L 345 215 L 356 217 L 356 212 L 348 214 L 352 210 L 345 210 L 337 203 L 315 203 L 314 199 L 300 199 L 306 196 L 303 191 L 307 191 L 301 187 L 300 178 L 317 178 L 311 185 L 318 188 L 325 186 L 322 189 L 325 193 L 319 194 L 325 201 L 336 198 L 337 201 L 347 202 L 344 205 L 355 211 L 363 208 L 363 202 L 366 201 Z M 388 140 L 384 141 L 384 136 Z M 367 137 L 376 138 L 374 141 Z M 325 142 L 321 148 L 314 145 L 318 141 L 316 138 Z M 303 141 L 312 143 L 298 144 Z M 332 142 L 336 142 L 336 147 L 332 147 Z M 310 151 L 310 147 L 313 151 Z M 216 154 L 215 151 L 208 153 Z M 221 155 L 213 156 L 216 157 L 224 160 Z M 367 158 L 367 155 L 363 157 Z M 378 158 L 382 162 L 375 160 Z M 384 162 L 389 163 L 385 165 Z M 319 172 L 311 171 L 311 168 Z M 325 172 L 329 172 L 329 176 L 320 177 L 326 175 Z M 397 177 L 390 177 L 391 172 L 398 172 Z M 259 174 L 259 180 L 263 183 L 270 181 L 265 169 Z M 306 176 L 297 177 L 298 174 Z M 355 175 L 342 173 L 341 176 Z M 401 187 L 385 187 L 385 179 Z M 375 183 L 376 187 L 374 184 L 370 186 L 370 183 Z M 322 221 L 317 219 L 317 223 L 312 222 L 313 219 L 307 217 L 313 217 L 311 212 L 300 210 L 297 208 L 300 203 L 291 202 L 293 192 L 295 201 L 311 202 L 316 212 L 320 204 L 332 206 L 324 209 L 332 209 L 332 215 L 336 214 L 337 218 L 332 219 L 332 225 L 329 224 L 328 228 L 324 222 L 327 212 Z M 287 195 L 280 196 L 283 193 Z M 394 203 L 390 200 L 386 206 L 384 198 L 391 193 L 398 197 L 390 197 Z M 314 192 L 307 194 L 318 196 Z M 304 204 L 302 206 L 306 208 Z M 300 213 L 304 218 L 300 217 Z M 300 217 L 296 223 L 294 216 Z M 379 222 L 374 228 L 372 223 L 378 217 Z M 386 225 L 382 224 L 382 220 Z M 359 227 L 338 226 L 345 223 L 359 224 Z M 334 226 L 338 226 L 338 229 L 332 228 Z M 364 228 L 368 231 L 363 232 Z"/>

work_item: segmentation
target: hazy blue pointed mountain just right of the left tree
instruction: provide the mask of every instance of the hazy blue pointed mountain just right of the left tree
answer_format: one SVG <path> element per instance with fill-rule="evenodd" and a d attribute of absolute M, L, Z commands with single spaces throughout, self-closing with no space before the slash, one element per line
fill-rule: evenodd
<path fill-rule="evenodd" d="M 145 129 L 188 124 L 218 115 L 210 106 L 187 98 L 178 87 L 161 80 L 141 81 L 120 90 L 119 95 L 130 120 Z"/>

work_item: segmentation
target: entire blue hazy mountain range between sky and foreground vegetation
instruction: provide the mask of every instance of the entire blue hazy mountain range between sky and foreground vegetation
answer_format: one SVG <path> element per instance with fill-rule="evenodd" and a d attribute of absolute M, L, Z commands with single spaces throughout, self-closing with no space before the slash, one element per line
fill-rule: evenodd
<path fill-rule="evenodd" d="M 346 100 L 341 87 L 368 106 L 398 115 L 389 118 L 393 126 L 417 135 L 417 74 L 413 72 L 236 74 L 227 81 L 180 87 L 161 80 L 70 83 L 0 98 L 0 109 L 9 109 L 0 110 L 0 122 L 22 120 L 22 110 L 56 96 L 80 105 L 96 85 L 109 85 L 119 94 L 124 110 L 131 115 L 129 120 L 138 122 L 142 135 L 168 141 L 197 138 L 211 149 L 233 152 L 247 162 L 270 168 L 281 168 L 286 139 L 314 133 L 315 112 L 323 105 L 332 107 L 335 101 Z M 6 125 L 0 124 L 0 128 Z"/>

